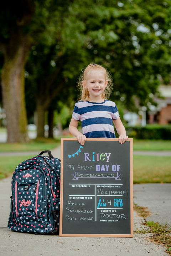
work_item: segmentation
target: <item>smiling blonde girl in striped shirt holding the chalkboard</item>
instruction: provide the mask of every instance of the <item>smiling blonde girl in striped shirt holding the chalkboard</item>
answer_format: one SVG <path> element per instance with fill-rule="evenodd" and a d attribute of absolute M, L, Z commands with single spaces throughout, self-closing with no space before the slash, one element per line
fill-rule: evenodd
<path fill-rule="evenodd" d="M 116 138 L 114 123 L 119 143 L 123 144 L 128 136 L 116 104 L 107 99 L 113 88 L 109 72 L 100 65 L 90 64 L 80 76 L 78 86 L 82 92 L 81 100 L 75 104 L 69 132 L 84 145 L 86 138 Z M 77 129 L 79 120 L 83 134 Z"/>

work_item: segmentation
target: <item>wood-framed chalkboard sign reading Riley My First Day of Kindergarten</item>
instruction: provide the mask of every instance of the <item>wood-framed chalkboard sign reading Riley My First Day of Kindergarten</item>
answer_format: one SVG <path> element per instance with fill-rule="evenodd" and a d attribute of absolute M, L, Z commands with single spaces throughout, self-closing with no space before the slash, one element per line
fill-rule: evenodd
<path fill-rule="evenodd" d="M 61 138 L 59 236 L 133 237 L 133 139 Z"/>

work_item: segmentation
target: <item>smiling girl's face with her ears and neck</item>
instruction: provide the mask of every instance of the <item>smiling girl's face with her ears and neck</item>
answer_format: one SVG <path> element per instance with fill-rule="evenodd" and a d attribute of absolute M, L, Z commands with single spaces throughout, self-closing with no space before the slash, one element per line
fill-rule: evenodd
<path fill-rule="evenodd" d="M 87 81 L 82 81 L 84 88 L 89 91 L 89 100 L 92 102 L 103 102 L 102 93 L 107 86 L 103 72 L 91 72 Z"/>

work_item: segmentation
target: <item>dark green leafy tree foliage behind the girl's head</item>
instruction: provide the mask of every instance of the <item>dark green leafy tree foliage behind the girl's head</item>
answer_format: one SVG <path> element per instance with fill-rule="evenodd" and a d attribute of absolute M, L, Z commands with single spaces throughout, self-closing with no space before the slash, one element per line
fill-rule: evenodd
<path fill-rule="evenodd" d="M 90 62 L 108 68 L 115 86 L 111 99 L 131 111 L 154 104 L 160 80 L 170 81 L 169 1 L 29 2 L 34 15 L 22 30 L 31 38 L 26 103 L 39 113 L 38 135 L 44 134 L 45 111 L 56 107 L 54 101 L 76 100 L 77 78 Z"/>

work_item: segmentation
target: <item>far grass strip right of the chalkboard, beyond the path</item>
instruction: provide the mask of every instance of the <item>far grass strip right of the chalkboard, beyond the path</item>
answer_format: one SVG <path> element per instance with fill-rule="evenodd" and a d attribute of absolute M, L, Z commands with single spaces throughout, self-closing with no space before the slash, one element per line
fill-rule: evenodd
<path fill-rule="evenodd" d="M 133 139 L 133 150 L 171 150 L 171 140 Z"/>

